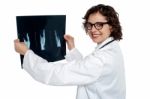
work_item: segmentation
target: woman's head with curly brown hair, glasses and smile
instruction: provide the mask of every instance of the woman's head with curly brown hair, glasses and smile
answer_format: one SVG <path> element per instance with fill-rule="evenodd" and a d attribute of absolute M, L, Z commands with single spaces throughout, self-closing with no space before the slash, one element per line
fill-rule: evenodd
<path fill-rule="evenodd" d="M 115 40 L 122 39 L 118 13 L 112 7 L 95 6 L 88 10 L 83 19 L 84 28 L 95 43 L 101 43 L 109 36 Z"/>

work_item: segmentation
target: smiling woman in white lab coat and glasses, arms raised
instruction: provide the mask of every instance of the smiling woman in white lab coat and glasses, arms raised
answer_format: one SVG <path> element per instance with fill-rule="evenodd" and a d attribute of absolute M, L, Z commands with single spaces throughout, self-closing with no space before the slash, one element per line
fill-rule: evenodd
<path fill-rule="evenodd" d="M 118 44 L 122 31 L 113 7 L 99 4 L 84 16 L 86 33 L 96 49 L 85 58 L 75 48 L 74 38 L 65 35 L 70 52 L 67 63 L 47 62 L 20 42 L 16 52 L 24 55 L 23 68 L 37 81 L 48 85 L 77 85 L 77 99 L 125 99 L 123 56 Z"/>

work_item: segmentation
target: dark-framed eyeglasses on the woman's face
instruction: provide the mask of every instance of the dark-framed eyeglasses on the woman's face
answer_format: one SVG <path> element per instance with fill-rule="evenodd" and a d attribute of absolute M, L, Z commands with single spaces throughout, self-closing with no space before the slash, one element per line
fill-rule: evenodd
<path fill-rule="evenodd" d="M 96 22 L 96 23 L 94 23 L 94 24 L 92 24 L 92 23 L 90 23 L 90 22 L 86 22 L 86 23 L 84 24 L 84 27 L 85 27 L 85 29 L 87 29 L 87 30 L 92 30 L 92 27 L 93 27 L 93 25 L 94 25 L 94 27 L 95 27 L 97 30 L 101 30 L 101 29 L 103 28 L 104 24 L 108 24 L 108 22 Z"/>

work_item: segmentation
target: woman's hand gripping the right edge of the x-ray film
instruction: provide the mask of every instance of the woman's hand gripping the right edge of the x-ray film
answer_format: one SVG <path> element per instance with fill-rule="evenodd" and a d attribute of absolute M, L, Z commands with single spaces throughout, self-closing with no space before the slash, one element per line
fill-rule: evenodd
<path fill-rule="evenodd" d="M 65 38 L 65 40 L 67 42 L 69 50 L 75 48 L 74 38 L 71 35 L 64 35 L 64 38 Z"/>

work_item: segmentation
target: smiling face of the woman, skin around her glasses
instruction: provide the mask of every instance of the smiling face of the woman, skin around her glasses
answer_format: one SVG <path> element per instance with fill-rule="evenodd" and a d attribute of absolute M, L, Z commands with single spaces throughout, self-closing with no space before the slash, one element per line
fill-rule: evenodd
<path fill-rule="evenodd" d="M 99 44 L 105 41 L 111 34 L 111 26 L 107 24 L 106 17 L 104 17 L 99 12 L 91 14 L 87 20 L 88 23 L 95 24 L 98 22 L 102 22 L 102 28 L 96 29 L 96 25 L 91 25 L 91 29 L 87 29 L 87 33 L 93 42 Z"/>

